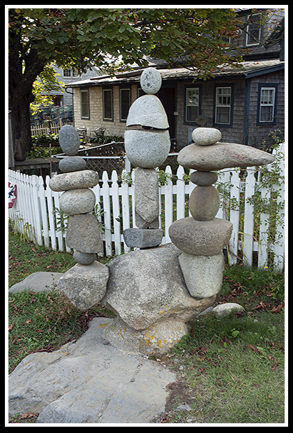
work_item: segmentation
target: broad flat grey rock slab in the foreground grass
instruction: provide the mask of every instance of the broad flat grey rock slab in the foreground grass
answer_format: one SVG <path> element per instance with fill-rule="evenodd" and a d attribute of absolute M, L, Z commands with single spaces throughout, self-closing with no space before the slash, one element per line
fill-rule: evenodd
<path fill-rule="evenodd" d="M 9 376 L 9 412 L 37 423 L 149 423 L 165 410 L 175 374 L 140 355 L 105 345 L 113 319 L 94 318 L 76 342 L 28 355 Z"/>

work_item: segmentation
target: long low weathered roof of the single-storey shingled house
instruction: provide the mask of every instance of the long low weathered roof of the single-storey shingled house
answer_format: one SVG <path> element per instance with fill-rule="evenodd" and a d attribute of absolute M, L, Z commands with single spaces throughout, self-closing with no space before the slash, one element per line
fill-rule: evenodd
<path fill-rule="evenodd" d="M 152 66 L 152 65 L 150 65 Z M 243 61 L 241 68 L 232 68 L 232 66 L 223 66 L 213 73 L 212 80 L 223 78 L 252 78 L 257 75 L 280 71 L 285 68 L 285 62 L 279 59 L 269 59 L 260 61 Z M 123 73 L 117 73 L 114 77 L 110 75 L 100 75 L 89 80 L 75 81 L 68 83 L 66 87 L 95 87 L 105 85 L 119 85 L 123 83 L 135 83 L 140 81 L 140 75 L 143 69 L 137 68 Z M 160 68 L 160 74 L 164 81 L 166 80 L 190 80 L 197 77 L 196 71 L 187 68 Z"/>

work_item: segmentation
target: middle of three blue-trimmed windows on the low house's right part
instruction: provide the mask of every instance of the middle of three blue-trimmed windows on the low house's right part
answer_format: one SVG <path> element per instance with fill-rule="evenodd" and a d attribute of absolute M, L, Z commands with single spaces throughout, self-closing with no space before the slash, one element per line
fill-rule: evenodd
<path fill-rule="evenodd" d="M 214 123 L 230 126 L 232 124 L 232 87 L 216 87 Z"/>

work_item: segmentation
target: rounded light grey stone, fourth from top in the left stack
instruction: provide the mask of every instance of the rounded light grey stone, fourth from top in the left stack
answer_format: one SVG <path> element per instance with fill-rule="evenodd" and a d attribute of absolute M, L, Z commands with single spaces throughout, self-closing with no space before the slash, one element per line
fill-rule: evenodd
<path fill-rule="evenodd" d="M 68 215 L 89 214 L 96 204 L 96 195 L 91 189 L 71 189 L 61 194 L 60 207 Z"/>

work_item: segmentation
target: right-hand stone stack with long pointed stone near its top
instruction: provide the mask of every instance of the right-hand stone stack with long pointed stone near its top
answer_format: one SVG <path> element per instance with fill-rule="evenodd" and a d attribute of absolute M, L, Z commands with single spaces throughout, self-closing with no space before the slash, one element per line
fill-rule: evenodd
<path fill-rule="evenodd" d="M 216 295 L 223 279 L 223 247 L 232 235 L 232 223 L 216 218 L 220 206 L 218 190 L 213 186 L 218 175 L 213 170 L 260 166 L 273 162 L 273 156 L 259 149 L 234 143 L 220 143 L 218 129 L 197 128 L 193 144 L 181 149 L 178 162 L 194 171 L 195 185 L 189 198 L 192 217 L 175 221 L 169 228 L 170 239 L 181 249 L 181 271 L 190 295 L 202 299 Z"/>

